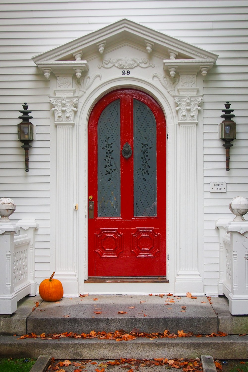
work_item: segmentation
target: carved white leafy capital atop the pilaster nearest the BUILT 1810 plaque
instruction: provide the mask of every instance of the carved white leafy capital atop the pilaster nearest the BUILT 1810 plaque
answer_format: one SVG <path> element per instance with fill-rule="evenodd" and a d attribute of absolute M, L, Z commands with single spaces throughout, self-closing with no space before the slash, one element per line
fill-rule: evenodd
<path fill-rule="evenodd" d="M 177 105 L 178 121 L 197 122 L 199 106 L 202 104 L 202 96 L 175 97 L 174 102 Z"/>

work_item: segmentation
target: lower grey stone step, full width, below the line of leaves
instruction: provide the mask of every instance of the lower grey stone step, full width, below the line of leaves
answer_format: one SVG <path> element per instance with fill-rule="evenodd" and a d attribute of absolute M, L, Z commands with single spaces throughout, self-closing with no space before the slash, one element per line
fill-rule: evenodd
<path fill-rule="evenodd" d="M 143 339 L 130 341 L 71 339 L 22 339 L 0 336 L 0 356 L 33 357 L 51 355 L 55 359 L 153 359 L 196 358 L 203 354 L 214 359 L 247 359 L 248 336 L 178 337 L 177 339 Z"/>

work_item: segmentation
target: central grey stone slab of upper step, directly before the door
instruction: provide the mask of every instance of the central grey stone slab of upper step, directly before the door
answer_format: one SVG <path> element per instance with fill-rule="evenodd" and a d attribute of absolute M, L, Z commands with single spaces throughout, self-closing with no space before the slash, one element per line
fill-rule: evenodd
<path fill-rule="evenodd" d="M 194 334 L 218 332 L 218 317 L 206 297 L 123 295 L 96 298 L 62 298 L 59 304 L 43 301 L 27 318 L 27 333 L 120 329 L 130 332 L 134 327 L 146 333 L 163 333 L 165 329 L 171 333 L 178 330 Z M 120 311 L 124 314 L 118 314 Z"/>

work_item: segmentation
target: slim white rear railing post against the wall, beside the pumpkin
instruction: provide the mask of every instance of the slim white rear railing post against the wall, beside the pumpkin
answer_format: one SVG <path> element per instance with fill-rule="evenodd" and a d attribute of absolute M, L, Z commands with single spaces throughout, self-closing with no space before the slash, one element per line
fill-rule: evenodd
<path fill-rule="evenodd" d="M 35 279 L 35 230 L 38 230 L 39 224 L 35 219 L 20 219 L 17 222 L 20 227 L 20 234 L 27 234 L 30 238 L 29 244 L 29 264 L 28 264 L 28 278 L 31 284 L 31 291 L 29 296 L 36 296 L 37 281 Z"/>

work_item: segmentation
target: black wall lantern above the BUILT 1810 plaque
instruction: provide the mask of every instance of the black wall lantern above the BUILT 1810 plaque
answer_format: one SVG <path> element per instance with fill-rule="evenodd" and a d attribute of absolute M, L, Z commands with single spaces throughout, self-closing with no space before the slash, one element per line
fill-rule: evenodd
<path fill-rule="evenodd" d="M 236 123 L 232 121 L 234 118 L 233 112 L 234 110 L 230 109 L 231 104 L 226 102 L 225 109 L 221 110 L 225 112 L 224 114 L 220 115 L 221 118 L 224 120 L 220 123 L 220 138 L 225 143 L 222 145 L 226 148 L 226 170 L 230 170 L 229 162 L 230 162 L 230 147 L 232 147 L 231 141 L 235 140 L 236 138 Z"/>

